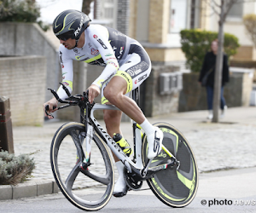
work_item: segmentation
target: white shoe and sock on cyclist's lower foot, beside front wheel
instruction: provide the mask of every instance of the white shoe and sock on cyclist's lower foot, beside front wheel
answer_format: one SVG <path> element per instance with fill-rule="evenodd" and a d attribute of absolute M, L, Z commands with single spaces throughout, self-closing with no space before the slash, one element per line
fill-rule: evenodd
<path fill-rule="evenodd" d="M 125 165 L 121 161 L 118 161 L 115 164 L 116 164 L 116 167 L 119 171 L 119 179 L 114 184 L 113 196 L 116 197 L 116 198 L 119 198 L 119 197 L 125 196 L 129 187 L 126 186 L 125 177 L 124 177 L 124 167 L 125 167 Z"/>

